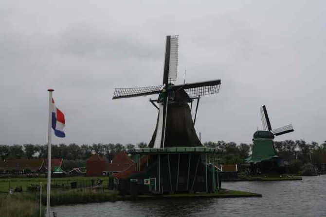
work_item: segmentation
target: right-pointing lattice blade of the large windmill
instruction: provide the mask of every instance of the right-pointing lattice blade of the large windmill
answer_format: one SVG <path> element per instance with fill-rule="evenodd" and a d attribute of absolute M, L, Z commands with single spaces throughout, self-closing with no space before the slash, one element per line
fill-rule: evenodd
<path fill-rule="evenodd" d="M 213 80 L 207 82 L 185 83 L 180 85 L 171 86 L 175 91 L 185 90 L 189 97 L 199 97 L 210 94 L 217 94 L 221 80 Z"/>

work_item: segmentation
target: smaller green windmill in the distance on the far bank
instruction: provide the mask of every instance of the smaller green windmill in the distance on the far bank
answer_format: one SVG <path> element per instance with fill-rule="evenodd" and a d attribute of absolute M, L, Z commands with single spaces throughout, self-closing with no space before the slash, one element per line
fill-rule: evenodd
<path fill-rule="evenodd" d="M 283 173 L 284 162 L 276 154 L 273 139 L 275 136 L 293 132 L 293 127 L 289 124 L 272 130 L 265 105 L 260 107 L 260 117 L 264 130 L 254 133 L 253 153 L 246 159 L 250 163 L 250 173 Z"/>

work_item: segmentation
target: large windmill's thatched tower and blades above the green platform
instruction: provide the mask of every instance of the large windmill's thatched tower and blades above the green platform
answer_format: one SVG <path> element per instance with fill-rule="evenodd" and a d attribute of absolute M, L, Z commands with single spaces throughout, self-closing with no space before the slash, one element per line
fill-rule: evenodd
<path fill-rule="evenodd" d="M 201 96 L 219 92 L 221 81 L 174 84 L 178 74 L 179 36 L 166 36 L 165 61 L 162 85 L 115 88 L 113 100 L 158 94 L 150 102 L 159 110 L 157 124 L 149 143 L 150 148 L 201 146 L 194 124 Z M 197 100 L 196 114 L 192 120 L 193 101 Z M 156 106 L 156 103 L 159 106 Z M 189 104 L 191 103 L 191 107 Z"/>

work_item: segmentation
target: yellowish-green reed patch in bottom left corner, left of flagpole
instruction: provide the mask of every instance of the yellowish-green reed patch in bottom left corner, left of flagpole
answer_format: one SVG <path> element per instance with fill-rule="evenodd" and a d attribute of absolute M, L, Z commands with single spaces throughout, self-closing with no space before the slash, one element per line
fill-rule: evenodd
<path fill-rule="evenodd" d="M 44 207 L 42 207 L 42 215 Z M 0 194 L 1 217 L 39 217 L 38 200 L 23 194 Z"/>

